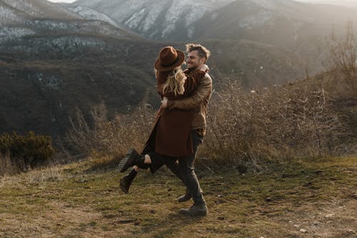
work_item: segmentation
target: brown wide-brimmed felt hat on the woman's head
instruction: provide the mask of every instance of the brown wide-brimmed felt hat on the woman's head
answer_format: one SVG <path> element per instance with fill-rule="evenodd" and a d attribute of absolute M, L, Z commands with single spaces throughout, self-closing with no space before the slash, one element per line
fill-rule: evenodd
<path fill-rule="evenodd" d="M 183 61 L 185 61 L 185 54 L 182 51 L 176 50 L 172 46 L 166 46 L 161 48 L 159 58 L 156 58 L 155 61 L 155 68 L 161 72 L 172 71 L 181 66 Z"/>

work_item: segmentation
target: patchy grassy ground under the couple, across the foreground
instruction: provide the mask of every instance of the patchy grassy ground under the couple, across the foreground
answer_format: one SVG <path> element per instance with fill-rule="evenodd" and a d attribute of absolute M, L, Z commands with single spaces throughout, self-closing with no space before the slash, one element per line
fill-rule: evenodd
<path fill-rule="evenodd" d="M 356 237 L 356 174 L 356 157 L 200 170 L 209 214 L 191 218 L 170 172 L 142 172 L 124 195 L 115 168 L 88 160 L 3 177 L 0 237 Z"/>

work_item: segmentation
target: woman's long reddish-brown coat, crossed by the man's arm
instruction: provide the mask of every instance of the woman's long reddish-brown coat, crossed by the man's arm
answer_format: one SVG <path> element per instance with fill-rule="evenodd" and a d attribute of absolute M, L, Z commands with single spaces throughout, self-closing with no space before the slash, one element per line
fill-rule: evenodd
<path fill-rule="evenodd" d="M 162 86 L 166 82 L 166 73 L 157 73 L 157 90 L 161 97 L 167 97 L 169 100 L 178 100 L 191 96 L 197 89 L 199 81 L 205 73 L 203 71 L 192 71 L 186 75 L 187 79 L 184 85 L 183 95 L 174 95 L 174 93 L 163 93 Z M 146 145 L 151 145 L 155 152 L 170 157 L 181 157 L 193 153 L 191 124 L 194 110 L 179 110 L 177 108 L 162 109 L 156 114 L 154 130 L 152 130 Z"/>

